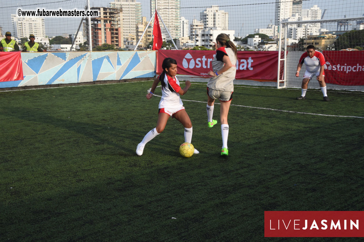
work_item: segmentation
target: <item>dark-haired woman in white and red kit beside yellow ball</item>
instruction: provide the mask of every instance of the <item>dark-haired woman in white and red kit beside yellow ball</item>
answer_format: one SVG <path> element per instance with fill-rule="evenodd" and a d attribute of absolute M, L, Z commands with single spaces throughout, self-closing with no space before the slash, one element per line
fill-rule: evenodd
<path fill-rule="evenodd" d="M 179 95 L 186 94 L 187 90 L 191 86 L 190 81 L 186 81 L 185 88 L 179 86 L 179 81 L 176 77 L 177 74 L 177 61 L 172 58 L 166 58 L 162 63 L 163 72 L 153 82 L 150 93 L 147 94 L 149 100 L 155 91 L 158 83 L 162 85 L 162 98 L 159 102 L 159 113 L 157 126 L 150 130 L 137 146 L 137 155 L 143 154 L 144 146 L 147 142 L 151 141 L 155 136 L 162 133 L 166 127 L 167 121 L 170 116 L 177 119 L 185 127 L 185 142 L 191 143 L 192 140 L 192 123 L 188 116 L 182 100 Z M 198 150 L 195 149 L 194 154 L 198 154 Z"/>

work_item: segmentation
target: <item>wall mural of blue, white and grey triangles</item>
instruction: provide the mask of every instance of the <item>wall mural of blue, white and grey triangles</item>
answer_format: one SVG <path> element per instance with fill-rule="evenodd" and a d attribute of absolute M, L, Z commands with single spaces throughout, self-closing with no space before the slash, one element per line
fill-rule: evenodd
<path fill-rule="evenodd" d="M 155 51 L 21 53 L 24 80 L 0 88 L 155 76 Z"/>

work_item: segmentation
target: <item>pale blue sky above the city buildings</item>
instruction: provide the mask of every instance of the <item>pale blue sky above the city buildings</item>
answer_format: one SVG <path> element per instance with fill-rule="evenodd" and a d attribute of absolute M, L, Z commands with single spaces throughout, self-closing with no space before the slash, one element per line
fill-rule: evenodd
<path fill-rule="evenodd" d="M 150 0 L 137 0 L 142 3 L 142 16 L 150 20 Z M 283 0 L 282 0 L 283 1 Z M 90 0 L 91 7 L 107 7 L 110 0 Z M 45 3 L 48 3 L 47 5 Z M 303 0 L 302 8 L 310 8 L 318 5 L 325 11 L 324 19 L 357 17 L 364 15 L 363 0 Z M 34 5 L 29 5 L 34 4 Z M 0 11 L 0 26 L 3 27 L 3 34 L 6 31 L 12 31 L 11 14 L 16 14 L 17 9 L 36 10 L 45 8 L 46 10 L 54 10 L 62 8 L 62 10 L 83 9 L 86 0 L 23 0 L 19 3 L 9 2 L 2 3 Z M 20 6 L 17 7 L 16 5 Z M 269 23 L 274 24 L 274 6 L 275 0 L 181 0 L 181 16 L 192 21 L 199 19 L 200 12 L 210 7 L 218 5 L 219 10 L 229 12 L 229 29 L 235 30 L 236 35 L 246 36 L 254 33 L 255 28 L 266 28 Z M 9 6 L 13 6 L 10 8 Z M 80 23 L 80 18 L 46 18 L 46 35 L 55 36 L 62 33 L 74 33 Z M 331 27 L 335 28 L 336 27 Z"/>

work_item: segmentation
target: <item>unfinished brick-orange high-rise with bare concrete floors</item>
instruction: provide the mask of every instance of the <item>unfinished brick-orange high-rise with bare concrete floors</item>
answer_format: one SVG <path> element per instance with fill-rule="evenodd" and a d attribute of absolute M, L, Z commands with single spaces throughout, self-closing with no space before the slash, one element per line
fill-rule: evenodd
<path fill-rule="evenodd" d="M 91 18 L 91 44 L 92 47 L 104 43 L 124 48 L 123 44 L 123 12 L 121 8 L 93 7 L 91 10 L 99 11 L 99 16 Z M 84 22 L 88 40 L 88 21 Z M 135 25 L 134 25 L 135 28 Z"/>

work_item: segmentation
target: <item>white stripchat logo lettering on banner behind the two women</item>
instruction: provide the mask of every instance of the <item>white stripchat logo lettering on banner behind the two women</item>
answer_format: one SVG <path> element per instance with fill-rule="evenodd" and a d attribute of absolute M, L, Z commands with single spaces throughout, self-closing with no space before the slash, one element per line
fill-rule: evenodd
<path fill-rule="evenodd" d="M 213 55 L 215 57 L 215 55 Z M 182 66 L 183 68 L 187 69 L 194 69 L 194 68 L 210 68 L 211 62 L 213 59 L 207 59 L 206 56 L 202 56 L 202 58 L 197 58 L 196 61 L 193 59 L 190 53 L 187 53 L 186 56 L 183 58 Z M 236 69 L 237 70 L 253 70 L 252 63 L 254 60 L 252 57 L 249 57 L 248 60 L 241 59 L 236 61 Z"/>

